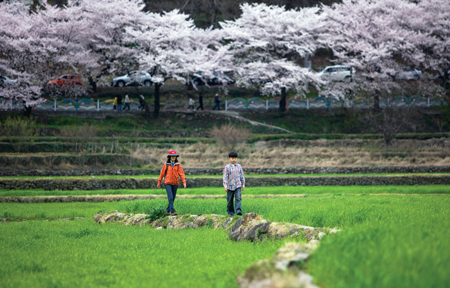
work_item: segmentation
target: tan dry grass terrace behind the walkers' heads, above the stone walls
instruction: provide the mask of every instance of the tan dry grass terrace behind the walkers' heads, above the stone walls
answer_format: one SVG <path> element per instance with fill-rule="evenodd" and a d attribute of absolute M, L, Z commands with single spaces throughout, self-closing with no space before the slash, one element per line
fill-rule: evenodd
<path fill-rule="evenodd" d="M 384 149 L 382 142 L 362 147 L 326 148 L 297 145 L 274 147 L 269 143 L 257 142 L 253 145 L 240 144 L 235 149 L 239 154 L 240 164 L 255 168 L 450 165 L 450 142 L 449 145 L 434 147 L 422 142 L 397 141 L 390 149 Z M 180 161 L 184 167 L 221 167 L 228 163 L 229 150 L 222 145 L 198 143 L 189 146 L 174 145 L 173 149 L 180 153 Z M 159 167 L 167 152 L 167 149 L 140 147 L 131 152 L 131 155 L 139 159 L 149 159 L 149 167 Z"/>

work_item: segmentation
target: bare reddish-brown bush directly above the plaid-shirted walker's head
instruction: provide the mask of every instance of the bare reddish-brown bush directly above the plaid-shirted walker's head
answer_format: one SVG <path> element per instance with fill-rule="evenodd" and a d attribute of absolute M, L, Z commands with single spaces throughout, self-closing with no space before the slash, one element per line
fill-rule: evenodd
<path fill-rule="evenodd" d="M 231 124 L 214 127 L 211 136 L 214 137 L 221 146 L 227 150 L 234 150 L 238 144 L 244 143 L 250 137 L 250 130 L 246 128 L 236 128 Z"/>

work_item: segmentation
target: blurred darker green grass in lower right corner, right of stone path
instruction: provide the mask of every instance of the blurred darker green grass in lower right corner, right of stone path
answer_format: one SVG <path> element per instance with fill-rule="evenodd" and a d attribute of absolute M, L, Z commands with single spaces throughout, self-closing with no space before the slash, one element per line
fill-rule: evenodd
<path fill-rule="evenodd" d="M 390 221 L 344 229 L 325 239 L 309 272 L 320 287 L 450 287 L 450 207 L 441 208 L 393 207 L 402 214 Z"/>

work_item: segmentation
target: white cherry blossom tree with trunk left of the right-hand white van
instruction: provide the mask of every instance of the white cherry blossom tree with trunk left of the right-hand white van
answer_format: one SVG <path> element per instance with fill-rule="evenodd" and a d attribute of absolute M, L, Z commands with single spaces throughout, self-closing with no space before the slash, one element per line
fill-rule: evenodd
<path fill-rule="evenodd" d="M 297 63 L 321 47 L 325 15 L 319 8 L 286 10 L 265 4 L 243 4 L 241 9 L 241 17 L 221 23 L 237 83 L 260 85 L 264 95 L 281 94 L 279 109 L 285 111 L 289 89 L 304 94 L 305 83 L 322 83 Z"/>

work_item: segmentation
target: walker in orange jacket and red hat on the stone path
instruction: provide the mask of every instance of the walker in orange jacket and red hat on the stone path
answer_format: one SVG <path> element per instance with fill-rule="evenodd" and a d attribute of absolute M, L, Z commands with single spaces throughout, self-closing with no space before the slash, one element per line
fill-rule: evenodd
<path fill-rule="evenodd" d="M 164 187 L 167 192 L 167 199 L 169 200 L 169 206 L 166 209 L 166 215 L 177 215 L 175 208 L 173 207 L 173 202 L 175 201 L 175 196 L 177 195 L 178 183 L 181 178 L 184 188 L 186 188 L 186 177 L 184 176 L 183 167 L 178 162 L 178 157 L 175 150 L 170 150 L 169 155 L 167 155 L 167 162 L 164 163 L 161 169 L 161 174 L 158 178 L 158 188 L 161 187 L 161 181 L 164 177 Z"/>

